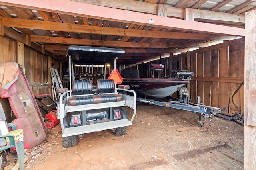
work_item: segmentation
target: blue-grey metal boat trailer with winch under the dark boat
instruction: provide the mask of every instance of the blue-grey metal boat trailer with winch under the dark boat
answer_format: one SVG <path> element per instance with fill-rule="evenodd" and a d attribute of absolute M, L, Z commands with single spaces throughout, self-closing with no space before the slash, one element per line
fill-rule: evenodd
<path fill-rule="evenodd" d="M 202 121 L 201 116 L 204 117 L 213 117 L 217 113 L 221 113 L 220 108 L 217 107 L 212 107 L 212 106 L 206 106 L 203 103 L 201 103 L 201 98 L 200 96 L 197 96 L 197 104 L 193 104 L 189 102 L 189 94 L 188 94 L 188 89 L 186 87 L 178 88 L 178 93 L 180 96 L 180 99 L 174 98 L 169 96 L 169 100 L 167 102 L 160 102 L 158 101 L 159 98 L 154 98 L 154 99 L 147 99 L 145 96 L 144 98 L 137 97 L 136 100 L 138 102 L 144 102 L 148 104 L 154 104 L 158 106 L 165 106 L 165 107 L 170 107 L 170 108 L 175 108 L 175 109 L 181 109 L 181 110 L 186 110 L 186 111 L 192 111 L 194 113 L 198 113 L 199 115 L 199 121 L 198 121 L 198 126 L 199 127 L 204 127 L 204 122 Z"/>

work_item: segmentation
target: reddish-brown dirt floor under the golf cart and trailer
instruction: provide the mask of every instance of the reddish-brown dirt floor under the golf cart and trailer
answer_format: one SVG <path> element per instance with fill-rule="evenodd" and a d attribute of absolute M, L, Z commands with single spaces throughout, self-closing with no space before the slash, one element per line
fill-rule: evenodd
<path fill-rule="evenodd" d="M 176 130 L 197 124 L 196 113 L 137 102 L 137 114 L 126 135 L 116 137 L 110 130 L 88 133 L 78 145 L 63 148 L 57 125 L 49 129 L 46 141 L 25 152 L 25 169 L 244 169 L 244 127 L 214 117 L 208 131 Z"/>

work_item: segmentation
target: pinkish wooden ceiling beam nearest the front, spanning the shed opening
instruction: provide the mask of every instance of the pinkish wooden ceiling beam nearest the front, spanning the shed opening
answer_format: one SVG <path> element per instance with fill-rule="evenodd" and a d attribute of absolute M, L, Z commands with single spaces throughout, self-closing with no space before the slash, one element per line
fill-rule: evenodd
<path fill-rule="evenodd" d="M 35 10 L 45 10 L 49 12 L 58 12 L 68 15 L 100 18 L 102 20 L 121 21 L 126 23 L 163 27 L 168 29 L 178 29 L 183 31 L 235 36 L 245 35 L 245 30 L 241 28 L 155 16 L 151 14 L 108 8 L 104 6 L 94 6 L 75 1 L 33 0 L 33 3 L 31 3 L 30 0 L 0 0 L 0 4 L 30 8 Z"/>

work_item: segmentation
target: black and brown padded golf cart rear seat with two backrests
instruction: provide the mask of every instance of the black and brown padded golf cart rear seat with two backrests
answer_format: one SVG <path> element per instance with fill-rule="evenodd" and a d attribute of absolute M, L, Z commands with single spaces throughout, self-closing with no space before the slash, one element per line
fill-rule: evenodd
<path fill-rule="evenodd" d="M 89 92 L 89 95 L 70 96 L 68 106 L 122 101 L 122 95 L 114 93 L 114 80 L 99 79 L 97 81 L 97 91 L 95 94 L 90 94 L 92 92 L 91 80 L 74 81 L 77 85 L 72 85 L 73 92 Z"/>

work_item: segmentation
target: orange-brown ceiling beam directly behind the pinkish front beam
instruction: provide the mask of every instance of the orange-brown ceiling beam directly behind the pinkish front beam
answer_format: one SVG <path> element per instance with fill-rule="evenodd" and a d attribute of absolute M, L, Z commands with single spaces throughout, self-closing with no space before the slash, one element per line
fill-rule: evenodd
<path fill-rule="evenodd" d="M 58 32 L 91 33 L 99 35 L 118 35 L 128 37 L 169 38 L 169 39 L 196 39 L 196 40 L 232 40 L 236 37 L 228 35 L 214 35 L 206 33 L 182 33 L 168 31 L 149 31 L 138 29 L 123 29 L 112 27 L 98 27 L 78 25 L 71 23 L 59 23 L 52 21 L 36 21 L 19 18 L 4 18 L 4 26 L 26 29 L 42 29 Z M 61 34 L 62 35 L 62 34 Z M 63 37 L 63 36 L 60 36 Z M 77 37 L 76 37 L 77 38 Z"/>

